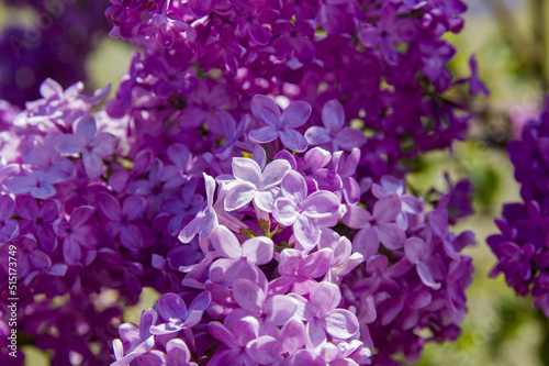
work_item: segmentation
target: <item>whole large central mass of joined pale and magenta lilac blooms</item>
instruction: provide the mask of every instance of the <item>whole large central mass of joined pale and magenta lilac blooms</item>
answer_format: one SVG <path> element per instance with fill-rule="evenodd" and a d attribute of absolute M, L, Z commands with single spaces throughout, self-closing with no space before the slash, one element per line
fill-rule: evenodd
<path fill-rule="evenodd" d="M 483 90 L 446 67 L 461 1 L 112 3 L 144 48 L 114 99 L 46 79 L 0 104 L 0 253 L 53 365 L 399 365 L 456 340 L 469 206 L 426 212 L 401 163 L 463 138 L 441 92 Z"/>

